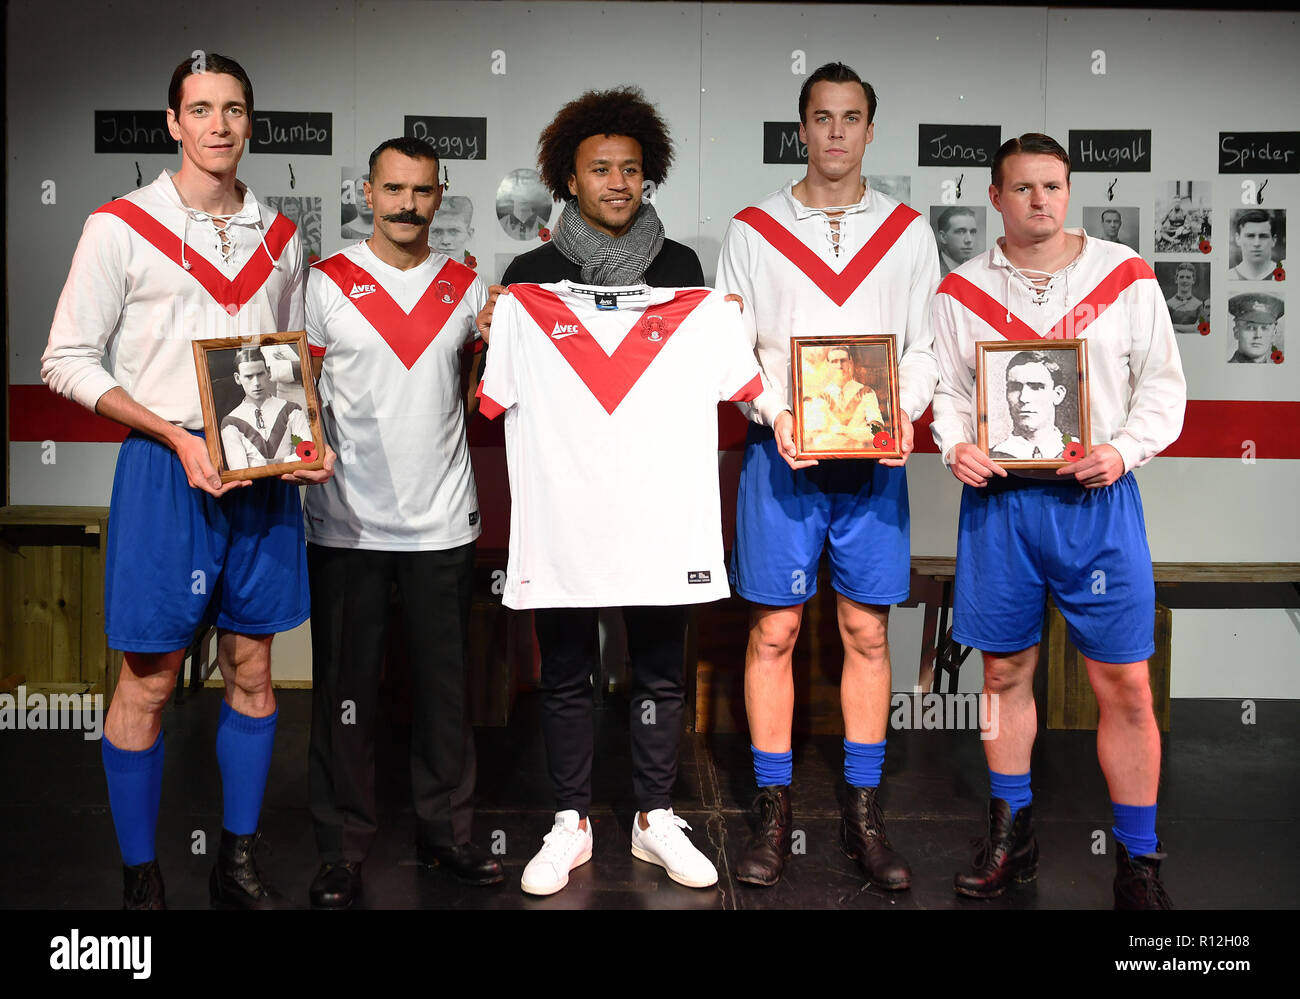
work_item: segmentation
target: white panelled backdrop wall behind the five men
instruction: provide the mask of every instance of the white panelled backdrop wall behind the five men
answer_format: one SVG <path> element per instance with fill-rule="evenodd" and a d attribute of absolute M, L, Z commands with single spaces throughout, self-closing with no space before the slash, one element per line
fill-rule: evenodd
<path fill-rule="evenodd" d="M 920 122 L 998 125 L 1002 137 L 1070 129 L 1150 129 L 1152 172 L 1075 173 L 1071 225 L 1086 206 L 1138 206 L 1140 251 L 1154 250 L 1165 181 L 1213 190 L 1213 333 L 1180 337 L 1193 399 L 1300 401 L 1300 355 L 1227 366 L 1225 274 L 1239 176 L 1219 176 L 1219 130 L 1300 129 L 1300 43 L 1284 13 L 1074 10 L 992 7 L 595 3 L 320 3 L 270 5 L 126 0 L 103 7 L 20 0 L 8 8 L 6 299 L 10 386 L 40 381 L 55 302 L 86 216 L 176 155 L 94 152 L 92 112 L 165 104 L 170 69 L 194 49 L 238 59 L 264 111 L 333 113 L 333 153 L 247 155 L 259 195 L 320 196 L 322 252 L 339 235 L 341 170 L 364 166 L 404 114 L 485 117 L 486 157 L 448 160 L 454 195 L 474 203 L 469 248 L 495 278 L 516 242 L 493 212 L 510 170 L 534 166 L 554 111 L 582 90 L 632 83 L 659 105 L 677 159 L 655 203 L 671 237 L 699 252 L 712 280 L 727 220 L 801 170 L 762 163 L 763 121 L 793 121 L 803 75 L 844 60 L 880 95 L 870 174 L 907 176 L 911 204 L 940 204 L 962 176 L 961 204 L 987 206 L 987 172 L 916 165 Z M 1097 53 L 1105 73 L 1097 73 Z M 94 53 L 87 56 L 86 53 Z M 1262 82 L 1256 70 L 1266 68 Z M 1245 72 L 1251 70 L 1251 72 Z M 296 186 L 289 187 L 290 165 Z M 1268 174 L 1268 208 L 1300 220 L 1300 177 Z M 55 203 L 43 203 L 53 181 Z M 48 200 L 48 199 L 47 199 Z M 987 239 L 1000 234 L 987 212 Z M 1287 285 L 1278 285 L 1286 295 Z M 1277 432 L 1277 428 L 1269 428 Z M 1262 431 L 1261 431 L 1262 432 Z M 1300 429 L 1291 428 L 1294 436 Z M 12 503 L 107 505 L 117 446 L 68 441 L 42 460 L 38 441 L 9 445 Z M 909 466 L 913 548 L 952 554 L 958 485 L 937 455 Z M 482 480 L 481 480 L 482 481 Z M 1139 472 L 1157 561 L 1300 561 L 1295 460 L 1160 458 Z M 896 686 L 915 678 L 914 611 L 897 614 Z M 1176 610 L 1175 696 L 1300 696 L 1300 628 L 1286 610 L 1252 611 L 1252 656 L 1230 679 L 1222 659 L 1242 611 Z M 1218 641 L 1184 641 L 1213 635 Z M 737 641 L 742 639 L 737 636 Z M 306 676 L 306 643 L 277 673 Z M 286 662 L 285 659 L 290 661 Z M 968 669 L 967 673 L 976 673 Z M 970 679 L 970 678 L 967 678 Z"/>

